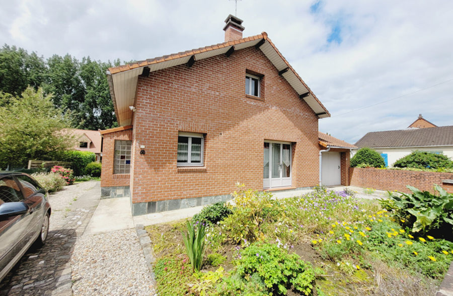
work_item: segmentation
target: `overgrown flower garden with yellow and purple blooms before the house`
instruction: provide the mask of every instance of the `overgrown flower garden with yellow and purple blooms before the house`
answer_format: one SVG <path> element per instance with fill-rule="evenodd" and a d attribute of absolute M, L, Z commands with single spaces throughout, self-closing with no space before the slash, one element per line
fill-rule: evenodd
<path fill-rule="evenodd" d="M 276 200 L 239 188 L 233 195 L 228 206 L 146 228 L 160 295 L 428 295 L 453 260 L 451 242 L 412 233 L 396 212 L 353 192 L 316 188 Z M 189 253 L 188 229 L 189 245 L 201 237 Z M 196 253 L 200 270 L 188 256 Z"/>

